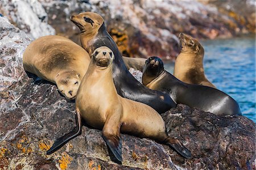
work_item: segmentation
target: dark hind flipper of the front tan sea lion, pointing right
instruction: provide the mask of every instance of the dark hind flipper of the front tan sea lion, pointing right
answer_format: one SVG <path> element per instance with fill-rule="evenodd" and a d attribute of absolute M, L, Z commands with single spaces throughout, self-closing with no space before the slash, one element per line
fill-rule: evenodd
<path fill-rule="evenodd" d="M 166 142 L 168 146 L 174 148 L 174 150 L 181 156 L 187 159 L 190 159 L 192 157 L 191 152 L 178 139 L 168 137 Z"/>

